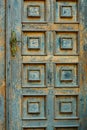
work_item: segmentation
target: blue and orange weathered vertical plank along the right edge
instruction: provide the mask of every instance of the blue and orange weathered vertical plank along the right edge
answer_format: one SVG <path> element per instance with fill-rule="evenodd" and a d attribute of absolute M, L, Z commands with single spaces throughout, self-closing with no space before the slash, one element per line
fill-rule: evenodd
<path fill-rule="evenodd" d="M 80 130 L 87 129 L 87 1 L 80 0 Z"/>

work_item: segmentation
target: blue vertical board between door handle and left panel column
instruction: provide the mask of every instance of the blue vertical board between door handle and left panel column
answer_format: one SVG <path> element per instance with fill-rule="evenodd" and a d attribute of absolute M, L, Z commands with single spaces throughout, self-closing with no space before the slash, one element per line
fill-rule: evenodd
<path fill-rule="evenodd" d="M 17 36 L 17 53 L 11 57 L 10 130 L 21 130 L 21 1 L 11 1 L 11 30 Z"/>

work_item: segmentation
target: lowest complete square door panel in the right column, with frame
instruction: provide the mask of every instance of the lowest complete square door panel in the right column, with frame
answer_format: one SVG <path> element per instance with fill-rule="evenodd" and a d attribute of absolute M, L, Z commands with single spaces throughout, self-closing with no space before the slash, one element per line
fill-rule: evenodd
<path fill-rule="evenodd" d="M 77 96 L 55 96 L 55 118 L 76 118 L 78 116 Z"/>

